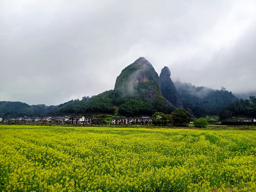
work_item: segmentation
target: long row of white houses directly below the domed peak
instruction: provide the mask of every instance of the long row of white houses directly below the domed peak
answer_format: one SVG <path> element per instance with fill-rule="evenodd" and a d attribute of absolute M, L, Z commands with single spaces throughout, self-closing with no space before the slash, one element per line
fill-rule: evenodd
<path fill-rule="evenodd" d="M 152 118 L 145 117 L 124 117 L 124 118 L 112 118 L 112 124 L 129 125 L 129 124 L 152 124 Z"/>

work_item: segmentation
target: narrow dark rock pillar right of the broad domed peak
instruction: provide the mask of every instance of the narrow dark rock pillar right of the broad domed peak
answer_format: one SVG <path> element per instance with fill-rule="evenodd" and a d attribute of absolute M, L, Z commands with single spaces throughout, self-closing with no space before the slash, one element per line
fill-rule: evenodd
<path fill-rule="evenodd" d="M 168 67 L 164 67 L 159 77 L 161 93 L 164 98 L 170 101 L 175 107 L 182 108 L 181 96 L 176 90 L 170 76 L 170 69 Z"/>

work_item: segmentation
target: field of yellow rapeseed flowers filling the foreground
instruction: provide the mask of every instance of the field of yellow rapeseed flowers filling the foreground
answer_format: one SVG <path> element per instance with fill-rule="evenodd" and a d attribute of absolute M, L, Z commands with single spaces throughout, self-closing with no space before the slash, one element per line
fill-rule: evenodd
<path fill-rule="evenodd" d="M 0 191 L 256 191 L 256 132 L 0 125 Z"/>

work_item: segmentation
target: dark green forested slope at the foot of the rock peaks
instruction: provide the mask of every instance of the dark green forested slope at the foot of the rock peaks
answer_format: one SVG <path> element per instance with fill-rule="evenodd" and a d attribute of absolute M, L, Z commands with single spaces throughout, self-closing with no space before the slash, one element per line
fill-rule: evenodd
<path fill-rule="evenodd" d="M 125 116 L 152 115 L 156 111 L 171 113 L 173 108 L 157 102 L 148 102 L 139 98 L 123 98 L 119 90 L 109 90 L 89 99 L 75 101 L 52 111 L 52 115 L 112 114 L 119 108 L 119 114 Z"/>

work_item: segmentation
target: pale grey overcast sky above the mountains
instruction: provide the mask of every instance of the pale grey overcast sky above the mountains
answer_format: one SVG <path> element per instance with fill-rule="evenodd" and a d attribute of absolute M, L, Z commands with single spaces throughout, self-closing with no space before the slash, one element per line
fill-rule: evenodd
<path fill-rule="evenodd" d="M 253 0 L 0 0 L 0 101 L 91 97 L 139 57 L 173 81 L 256 92 L 255 34 Z"/>

